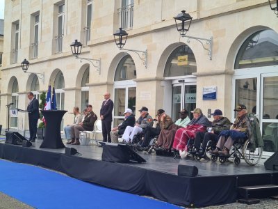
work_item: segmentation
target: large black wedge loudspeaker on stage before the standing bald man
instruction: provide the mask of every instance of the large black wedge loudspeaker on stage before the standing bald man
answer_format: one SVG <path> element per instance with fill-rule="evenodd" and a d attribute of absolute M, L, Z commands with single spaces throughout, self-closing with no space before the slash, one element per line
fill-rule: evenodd
<path fill-rule="evenodd" d="M 146 162 L 144 158 L 126 144 L 107 143 L 103 145 L 101 160 L 108 162 Z"/>

